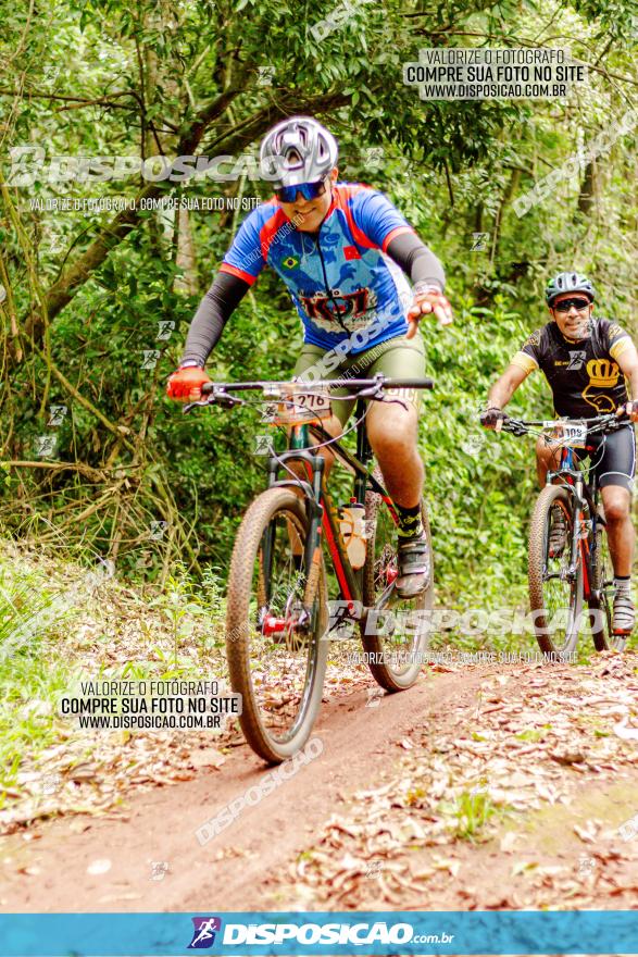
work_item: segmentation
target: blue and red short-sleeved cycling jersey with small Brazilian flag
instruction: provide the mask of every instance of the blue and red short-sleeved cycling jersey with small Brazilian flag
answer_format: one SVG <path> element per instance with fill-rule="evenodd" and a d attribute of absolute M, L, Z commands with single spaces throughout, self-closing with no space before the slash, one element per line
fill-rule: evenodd
<path fill-rule="evenodd" d="M 288 287 L 305 343 L 328 350 L 371 326 L 361 345 L 354 336 L 350 351 L 356 353 L 408 328 L 410 284 L 386 250 L 396 236 L 413 232 L 381 192 L 337 183 L 317 234 L 295 228 L 275 199 L 253 210 L 221 272 L 252 285 L 267 263 Z"/>

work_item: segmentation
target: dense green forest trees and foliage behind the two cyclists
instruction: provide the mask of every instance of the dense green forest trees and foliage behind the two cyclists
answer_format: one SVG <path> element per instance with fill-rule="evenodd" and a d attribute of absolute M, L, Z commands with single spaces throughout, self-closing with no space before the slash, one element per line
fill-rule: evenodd
<path fill-rule="evenodd" d="M 173 156 L 186 134 L 197 154 L 254 154 L 280 115 L 321 115 L 339 138 L 342 177 L 385 190 L 447 270 L 456 324 L 449 331 L 423 324 L 436 390 L 426 399 L 420 439 L 439 597 L 461 609 L 498 607 L 503 594 L 524 605 L 533 448 L 486 436 L 477 412 L 512 352 L 545 321 L 548 273 L 571 264 L 591 272 L 603 313 L 633 331 L 634 132 L 597 159 L 587 215 L 585 164 L 525 215 L 516 215 L 513 201 L 625 113 L 636 84 L 634 4 L 445 0 L 433 9 L 421 0 L 384 0 L 359 4 L 315 42 L 312 26 L 334 9 L 333 0 L 305 7 L 302 15 L 291 0 L 47 0 L 29 18 L 27 8 L 4 3 L 2 135 L 9 145 L 43 144 L 48 158 Z M 13 38 L 23 35 L 16 46 Z M 403 64 L 422 48 L 452 45 L 568 46 L 573 58 L 591 64 L 589 85 L 565 101 L 420 100 L 402 80 Z M 272 83 L 261 82 L 261 67 Z M 215 113 L 222 94 L 227 101 Z M 368 147 L 381 150 L 374 165 Z M 49 405 L 67 406 L 68 415 L 55 431 L 55 451 L 38 468 L 3 467 L 0 521 L 4 531 L 45 545 L 97 549 L 120 573 L 176 583 L 177 594 L 185 586 L 175 577 L 176 557 L 200 575 L 209 566 L 225 575 L 237 523 L 265 478 L 264 460 L 253 455 L 253 436 L 263 431 L 254 411 L 184 417 L 163 395 L 242 213 L 189 213 L 189 274 L 177 256 L 184 227 L 175 214 L 140 213 L 120 236 L 114 213 L 32 206 L 62 196 L 134 199 L 142 186 L 137 174 L 68 184 L 39 177 L 4 196 L 1 260 L 21 327 L 38 307 L 38 289 L 68 283 L 70 266 L 83 262 L 96 239 L 110 251 L 75 277 L 74 296 L 52 316 L 39 350 L 26 336 L 22 360 L 2 375 L 7 460 L 38 459 L 39 437 L 52 434 Z M 164 184 L 162 195 L 268 192 L 248 176 Z M 481 251 L 472 249 L 476 232 L 489 234 Z M 175 323 L 167 339 L 158 338 L 162 321 Z M 7 357 L 14 345 L 7 308 L 0 322 Z M 209 369 L 218 380 L 284 378 L 300 344 L 283 284 L 265 273 Z M 158 353 L 150 364 L 149 352 Z M 540 376 L 525 384 L 514 408 L 522 415 L 550 412 Z M 166 523 L 163 537 L 153 536 L 158 522 Z M 177 614 L 171 608 L 166 614 Z M 173 631 L 177 648 L 178 621 Z"/>

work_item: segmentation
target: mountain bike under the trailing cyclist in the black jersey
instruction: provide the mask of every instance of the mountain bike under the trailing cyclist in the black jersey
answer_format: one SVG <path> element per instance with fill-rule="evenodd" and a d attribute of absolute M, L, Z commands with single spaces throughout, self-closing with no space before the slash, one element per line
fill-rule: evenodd
<path fill-rule="evenodd" d="M 627 635 L 612 630 L 614 573 L 609 555 L 605 520 L 596 474 L 590 461 L 586 481 L 581 455 L 596 455 L 588 436 L 605 436 L 626 427 L 627 419 L 614 413 L 596 419 L 560 419 L 524 422 L 506 418 L 502 428 L 513 435 L 543 435 L 561 451 L 556 471 L 548 472 L 529 529 L 529 605 L 540 649 L 564 658 L 574 654 L 587 601 L 593 644 L 599 651 L 623 650 Z M 604 437 L 599 446 L 602 453 Z M 563 535 L 564 530 L 564 535 Z M 553 533 L 553 534 L 552 534 Z M 550 540 L 561 547 L 551 547 Z"/>

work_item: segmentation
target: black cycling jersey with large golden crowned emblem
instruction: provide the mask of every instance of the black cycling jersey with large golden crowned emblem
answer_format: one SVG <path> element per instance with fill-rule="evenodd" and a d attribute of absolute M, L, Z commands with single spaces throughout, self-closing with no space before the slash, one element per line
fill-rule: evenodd
<path fill-rule="evenodd" d="M 608 319 L 591 319 L 589 335 L 567 339 L 552 320 L 531 333 L 512 362 L 541 369 L 559 415 L 591 419 L 628 401 L 625 377 L 615 361 L 631 344 L 628 333 Z"/>

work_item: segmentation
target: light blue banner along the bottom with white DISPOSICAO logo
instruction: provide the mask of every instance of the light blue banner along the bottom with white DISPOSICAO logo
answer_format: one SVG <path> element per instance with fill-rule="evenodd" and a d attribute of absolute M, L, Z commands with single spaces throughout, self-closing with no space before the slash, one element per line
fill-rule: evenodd
<path fill-rule="evenodd" d="M 4 913 L 1 957 L 638 955 L 638 911 Z"/>

